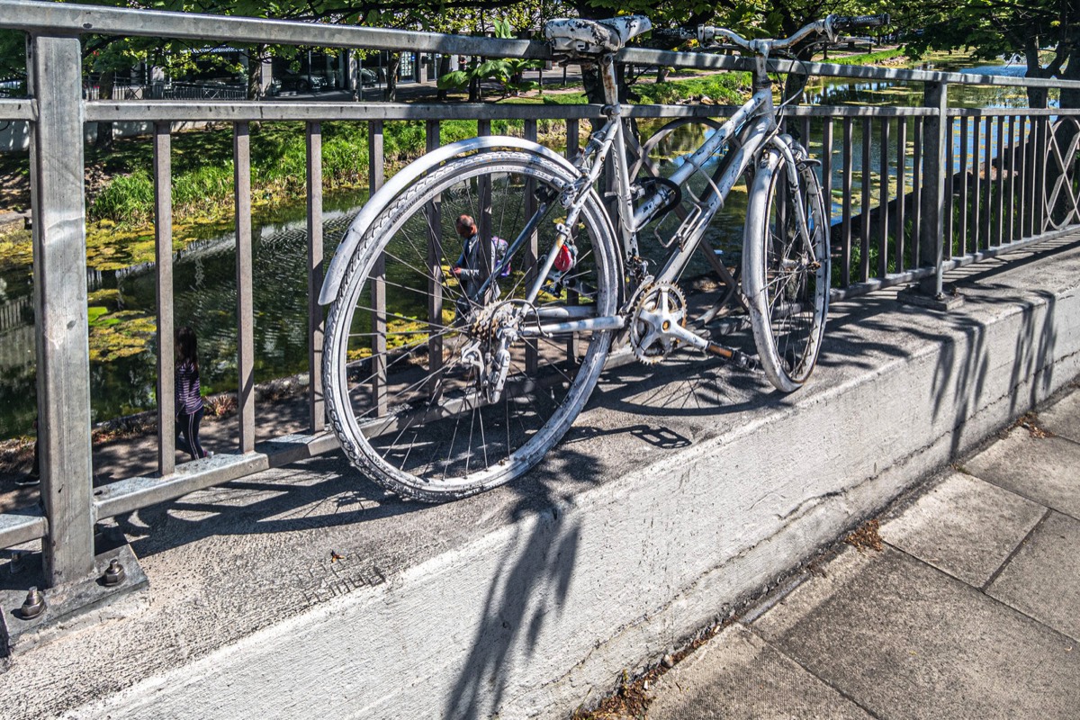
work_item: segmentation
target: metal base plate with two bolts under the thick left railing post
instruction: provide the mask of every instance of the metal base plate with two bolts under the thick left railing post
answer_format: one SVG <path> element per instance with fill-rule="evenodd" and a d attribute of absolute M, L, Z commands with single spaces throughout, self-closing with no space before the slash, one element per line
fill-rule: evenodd
<path fill-rule="evenodd" d="M 25 652 L 75 629 L 71 620 L 149 586 L 123 534 L 99 533 L 94 545 L 95 573 L 82 582 L 45 588 L 41 553 L 24 558 L 19 566 L 26 569 L 22 572 L 0 579 L 0 657 Z"/>

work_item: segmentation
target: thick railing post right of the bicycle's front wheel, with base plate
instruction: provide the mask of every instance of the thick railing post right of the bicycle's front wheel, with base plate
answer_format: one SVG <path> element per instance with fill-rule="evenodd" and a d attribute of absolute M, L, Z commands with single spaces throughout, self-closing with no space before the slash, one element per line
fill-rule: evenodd
<path fill-rule="evenodd" d="M 945 233 L 945 174 L 948 137 L 948 85 L 927 83 L 923 105 L 934 111 L 927 118 L 922 133 L 922 196 L 919 199 L 919 260 L 923 267 L 932 266 L 933 275 L 919 282 L 917 293 L 908 293 L 905 299 L 932 307 L 947 309 L 951 298 L 946 298 L 942 287 L 943 237 Z"/>

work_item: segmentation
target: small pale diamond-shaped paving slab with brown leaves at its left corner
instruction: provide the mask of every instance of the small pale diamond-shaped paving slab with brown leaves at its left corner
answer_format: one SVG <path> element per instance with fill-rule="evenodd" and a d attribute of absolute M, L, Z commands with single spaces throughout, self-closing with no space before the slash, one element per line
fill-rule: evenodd
<path fill-rule="evenodd" d="M 982 587 L 1045 513 L 1036 502 L 951 471 L 881 526 L 881 538 Z"/>

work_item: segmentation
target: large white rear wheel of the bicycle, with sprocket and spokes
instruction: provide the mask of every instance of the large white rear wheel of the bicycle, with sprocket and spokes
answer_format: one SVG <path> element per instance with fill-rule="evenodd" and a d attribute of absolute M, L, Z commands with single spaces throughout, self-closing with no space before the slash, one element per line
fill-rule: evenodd
<path fill-rule="evenodd" d="M 543 458 L 584 406 L 611 338 L 582 322 L 613 315 L 619 287 L 595 192 L 571 229 L 576 255 L 563 253 L 527 298 L 566 220 L 558 193 L 575 179 L 528 152 L 469 155 L 431 171 L 369 226 L 327 316 L 323 371 L 341 447 L 377 483 L 429 502 L 501 485 Z M 492 261 L 486 289 L 490 269 L 455 273 L 462 215 L 476 242 L 511 254 L 502 271 Z M 527 332 L 540 326 L 545 335 Z"/>

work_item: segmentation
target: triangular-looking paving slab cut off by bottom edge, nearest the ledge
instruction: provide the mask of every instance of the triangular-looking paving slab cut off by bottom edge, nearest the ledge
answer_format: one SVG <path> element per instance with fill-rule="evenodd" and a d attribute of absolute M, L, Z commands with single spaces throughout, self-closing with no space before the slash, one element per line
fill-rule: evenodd
<path fill-rule="evenodd" d="M 649 720 L 870 718 L 742 624 L 661 676 Z"/>

